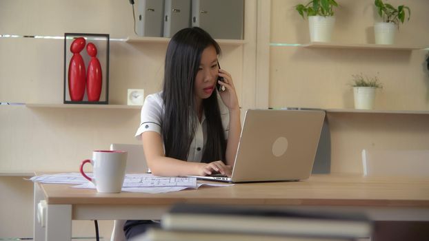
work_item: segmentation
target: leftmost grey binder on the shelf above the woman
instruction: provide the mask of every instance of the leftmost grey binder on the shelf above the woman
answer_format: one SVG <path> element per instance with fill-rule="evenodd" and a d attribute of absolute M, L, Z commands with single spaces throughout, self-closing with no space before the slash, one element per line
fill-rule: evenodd
<path fill-rule="evenodd" d="M 136 32 L 139 36 L 163 36 L 164 0 L 137 0 Z"/>

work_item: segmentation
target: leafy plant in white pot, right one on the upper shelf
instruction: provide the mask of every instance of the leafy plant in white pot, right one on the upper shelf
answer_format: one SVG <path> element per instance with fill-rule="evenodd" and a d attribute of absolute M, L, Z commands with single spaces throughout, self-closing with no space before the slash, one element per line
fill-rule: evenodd
<path fill-rule="evenodd" d="M 375 43 L 393 44 L 395 42 L 395 33 L 397 29 L 399 30 L 399 23 L 405 21 L 407 13 L 407 21 L 410 20 L 411 10 L 405 5 L 395 8 L 389 3 L 383 3 L 382 0 L 375 0 L 374 5 L 379 16 L 383 18 L 382 23 L 374 24 Z"/>

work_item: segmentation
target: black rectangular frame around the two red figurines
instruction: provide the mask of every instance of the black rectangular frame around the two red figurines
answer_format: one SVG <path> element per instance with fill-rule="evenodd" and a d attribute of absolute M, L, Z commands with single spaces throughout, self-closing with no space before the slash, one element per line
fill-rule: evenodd
<path fill-rule="evenodd" d="M 97 59 L 99 59 L 102 72 L 101 94 L 99 101 L 88 101 L 87 90 L 83 96 L 82 101 L 72 101 L 70 98 L 68 88 L 68 69 L 70 60 L 73 53 L 70 51 L 70 45 L 74 39 L 83 37 L 86 40 L 85 46 L 88 43 L 94 43 L 97 47 Z M 109 34 L 90 34 L 90 33 L 65 33 L 64 34 L 64 104 L 98 104 L 108 105 L 109 103 L 109 49 L 110 49 L 110 35 Z M 85 62 L 86 74 L 88 71 L 88 64 L 90 56 L 86 52 L 86 47 L 80 52 L 83 61 Z M 86 88 L 85 88 L 86 89 Z"/>

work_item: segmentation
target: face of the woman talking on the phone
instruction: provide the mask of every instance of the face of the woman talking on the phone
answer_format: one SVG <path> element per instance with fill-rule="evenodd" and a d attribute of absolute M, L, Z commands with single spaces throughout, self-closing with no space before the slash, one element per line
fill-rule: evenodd
<path fill-rule="evenodd" d="M 201 54 L 201 62 L 194 83 L 194 93 L 197 99 L 208 98 L 215 91 L 219 69 L 217 67 L 217 53 L 210 45 Z"/>

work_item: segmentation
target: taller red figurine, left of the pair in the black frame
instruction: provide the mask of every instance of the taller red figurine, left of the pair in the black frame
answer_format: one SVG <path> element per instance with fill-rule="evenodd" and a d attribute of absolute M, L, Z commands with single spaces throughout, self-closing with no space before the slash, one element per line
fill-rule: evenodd
<path fill-rule="evenodd" d="M 82 101 L 85 94 L 86 74 L 85 62 L 83 62 L 80 52 L 85 48 L 85 39 L 82 37 L 74 39 L 70 45 L 73 53 L 68 67 L 68 92 L 72 101 Z"/>

